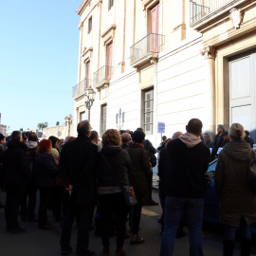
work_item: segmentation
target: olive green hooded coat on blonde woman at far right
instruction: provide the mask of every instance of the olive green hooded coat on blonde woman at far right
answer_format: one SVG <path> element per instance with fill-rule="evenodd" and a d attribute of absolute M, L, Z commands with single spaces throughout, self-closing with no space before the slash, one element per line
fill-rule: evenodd
<path fill-rule="evenodd" d="M 239 227 L 244 215 L 247 225 L 256 221 L 256 195 L 247 188 L 247 161 L 250 144 L 231 141 L 219 154 L 215 171 L 215 191 L 220 199 L 220 220 Z"/>

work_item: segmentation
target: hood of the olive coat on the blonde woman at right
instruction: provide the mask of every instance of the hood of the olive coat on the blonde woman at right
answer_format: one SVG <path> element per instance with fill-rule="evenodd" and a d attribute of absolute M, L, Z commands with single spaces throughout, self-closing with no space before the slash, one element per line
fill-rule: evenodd
<path fill-rule="evenodd" d="M 230 141 L 222 150 L 229 155 L 230 158 L 236 161 L 245 161 L 251 157 L 251 147 L 246 140 Z M 221 153 L 220 153 L 221 154 Z"/>

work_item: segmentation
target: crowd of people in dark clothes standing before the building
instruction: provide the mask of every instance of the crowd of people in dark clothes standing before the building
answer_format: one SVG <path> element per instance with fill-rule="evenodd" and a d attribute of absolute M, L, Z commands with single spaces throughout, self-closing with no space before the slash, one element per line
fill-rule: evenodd
<path fill-rule="evenodd" d="M 248 256 L 249 226 L 256 221 L 256 196 L 247 187 L 247 160 L 255 157 L 254 141 L 243 125 L 231 124 L 229 132 L 218 125 L 214 143 L 210 133 L 202 135 L 200 119 L 191 119 L 186 133 L 162 137 L 157 149 L 136 131 L 108 129 L 101 140 L 88 120 L 78 124 L 78 137 L 48 137 L 40 142 L 35 133 L 0 134 L 0 185 L 6 191 L 6 231 L 26 232 L 23 222 L 37 222 L 39 229 L 52 229 L 48 210 L 62 223 L 63 255 L 72 251 L 71 231 L 77 222 L 77 255 L 95 255 L 89 247 L 89 229 L 95 219 L 101 236 L 102 255 L 110 255 L 110 236 L 117 234 L 116 256 L 126 255 L 124 239 L 144 242 L 138 234 L 143 206 L 156 206 L 152 198 L 153 168 L 157 164 L 162 215 L 160 256 L 171 256 L 175 238 L 190 234 L 190 255 L 203 255 L 202 222 L 206 172 L 218 158 L 215 190 L 220 200 L 220 219 L 225 224 L 223 255 L 231 256 L 236 228 L 241 230 L 241 255 Z M 6 140 L 6 141 L 5 141 Z M 155 157 L 158 152 L 158 157 Z M 131 186 L 137 204 L 128 206 L 124 192 Z M 36 212 L 37 192 L 40 194 Z M 129 219 L 129 232 L 126 223 Z"/>

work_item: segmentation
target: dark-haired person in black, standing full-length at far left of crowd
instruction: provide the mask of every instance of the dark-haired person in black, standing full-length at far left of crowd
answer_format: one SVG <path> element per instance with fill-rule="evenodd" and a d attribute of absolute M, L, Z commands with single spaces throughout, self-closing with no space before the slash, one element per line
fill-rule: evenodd
<path fill-rule="evenodd" d="M 25 229 L 20 228 L 18 212 L 27 184 L 31 180 L 28 167 L 27 146 L 22 142 L 21 133 L 14 131 L 5 151 L 4 174 L 7 191 L 6 201 L 6 230 L 9 233 L 22 233 Z"/>

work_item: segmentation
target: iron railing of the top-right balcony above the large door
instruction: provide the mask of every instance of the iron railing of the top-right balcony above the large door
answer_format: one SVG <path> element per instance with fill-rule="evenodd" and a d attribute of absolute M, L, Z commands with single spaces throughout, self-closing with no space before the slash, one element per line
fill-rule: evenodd
<path fill-rule="evenodd" d="M 191 2 L 191 25 L 211 12 L 221 9 L 228 4 L 239 0 L 190 0 Z"/>

